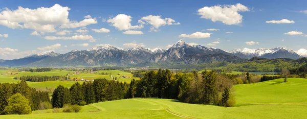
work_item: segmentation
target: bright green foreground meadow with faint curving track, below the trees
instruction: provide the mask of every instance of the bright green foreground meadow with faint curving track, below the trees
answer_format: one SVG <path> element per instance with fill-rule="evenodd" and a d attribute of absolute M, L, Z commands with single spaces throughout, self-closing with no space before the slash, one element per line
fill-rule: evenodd
<path fill-rule="evenodd" d="M 82 107 L 79 113 L 34 111 L 0 118 L 305 118 L 307 79 L 235 85 L 236 106 L 217 107 L 168 99 L 126 99 Z M 100 111 L 97 111 L 100 110 Z"/>

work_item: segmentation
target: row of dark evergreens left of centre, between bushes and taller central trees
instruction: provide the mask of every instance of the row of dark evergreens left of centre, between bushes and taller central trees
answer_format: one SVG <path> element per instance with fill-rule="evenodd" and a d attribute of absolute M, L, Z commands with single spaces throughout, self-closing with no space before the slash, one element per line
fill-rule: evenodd
<path fill-rule="evenodd" d="M 128 84 L 118 81 L 95 79 L 94 82 L 78 82 L 70 88 L 59 85 L 52 94 L 53 107 L 61 108 L 65 104 L 85 105 L 102 101 L 120 100 L 126 98 Z"/>

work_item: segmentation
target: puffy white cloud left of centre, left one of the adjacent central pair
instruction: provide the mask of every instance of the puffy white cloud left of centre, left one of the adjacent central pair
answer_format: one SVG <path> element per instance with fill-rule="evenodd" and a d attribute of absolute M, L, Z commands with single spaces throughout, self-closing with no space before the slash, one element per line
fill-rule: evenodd
<path fill-rule="evenodd" d="M 116 29 L 122 30 L 130 30 L 130 29 L 141 29 L 143 25 L 132 26 L 131 25 L 131 16 L 125 14 L 118 14 L 114 18 L 109 18 L 107 22 L 111 23 Z"/>

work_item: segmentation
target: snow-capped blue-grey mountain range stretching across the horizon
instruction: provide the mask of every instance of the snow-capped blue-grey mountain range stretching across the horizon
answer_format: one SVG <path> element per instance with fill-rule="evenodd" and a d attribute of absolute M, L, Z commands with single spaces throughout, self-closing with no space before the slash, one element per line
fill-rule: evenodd
<path fill-rule="evenodd" d="M 0 66 L 128 66 L 140 63 L 201 64 L 226 61 L 230 63 L 247 61 L 253 57 L 276 59 L 298 59 L 306 57 L 307 50 L 296 52 L 285 47 L 274 49 L 234 49 L 227 52 L 202 45 L 189 45 L 179 40 L 169 49 L 145 49 L 135 46 L 121 49 L 112 45 L 98 46 L 87 50 L 73 50 L 59 54 L 53 51 L 33 54 L 15 60 L 0 60 Z"/>

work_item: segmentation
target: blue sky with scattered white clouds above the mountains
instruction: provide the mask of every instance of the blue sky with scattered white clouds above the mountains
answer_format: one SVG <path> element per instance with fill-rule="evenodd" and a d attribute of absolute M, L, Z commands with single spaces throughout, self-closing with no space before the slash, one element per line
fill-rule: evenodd
<path fill-rule="evenodd" d="M 167 49 L 180 39 L 227 51 L 277 46 L 307 49 L 307 1 L 1 3 L 0 59 L 43 51 L 67 53 L 105 44 Z"/>

